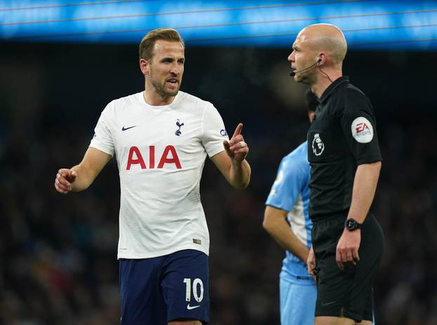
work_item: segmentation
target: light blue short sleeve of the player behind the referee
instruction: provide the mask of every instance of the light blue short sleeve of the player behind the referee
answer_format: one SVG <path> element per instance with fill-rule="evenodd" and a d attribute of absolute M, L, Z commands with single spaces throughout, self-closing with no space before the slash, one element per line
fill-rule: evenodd
<path fill-rule="evenodd" d="M 308 182 L 308 175 L 309 173 L 306 173 L 299 159 L 283 158 L 275 182 L 268 194 L 266 205 L 292 211 L 299 194 Z"/>

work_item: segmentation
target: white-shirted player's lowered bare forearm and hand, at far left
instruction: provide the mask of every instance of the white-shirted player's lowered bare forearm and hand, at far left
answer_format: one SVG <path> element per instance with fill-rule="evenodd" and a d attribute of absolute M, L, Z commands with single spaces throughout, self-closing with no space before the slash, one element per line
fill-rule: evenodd
<path fill-rule="evenodd" d="M 110 159 L 109 154 L 89 147 L 79 165 L 71 169 L 61 168 L 58 171 L 55 180 L 56 190 L 63 194 L 86 190 Z"/>

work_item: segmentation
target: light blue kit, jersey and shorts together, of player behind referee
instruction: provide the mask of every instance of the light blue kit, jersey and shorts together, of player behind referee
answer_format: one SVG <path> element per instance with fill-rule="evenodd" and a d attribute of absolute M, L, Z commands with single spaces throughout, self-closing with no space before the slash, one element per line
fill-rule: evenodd
<path fill-rule="evenodd" d="M 311 228 L 308 215 L 310 201 L 310 165 L 308 145 L 302 143 L 285 156 L 278 168 L 266 205 L 288 211 L 287 220 L 296 237 L 311 248 Z M 289 251 L 285 252 L 280 273 L 281 325 L 313 325 L 317 289 L 306 263 Z"/>

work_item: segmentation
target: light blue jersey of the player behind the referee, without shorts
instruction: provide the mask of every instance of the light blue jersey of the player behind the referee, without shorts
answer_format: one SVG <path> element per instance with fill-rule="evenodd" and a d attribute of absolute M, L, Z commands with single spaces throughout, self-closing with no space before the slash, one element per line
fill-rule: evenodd
<path fill-rule="evenodd" d="M 287 220 L 292 231 L 309 249 L 313 224 L 308 215 L 310 165 L 307 147 L 304 142 L 282 159 L 266 205 L 289 211 Z M 292 283 L 314 285 L 313 281 L 299 281 L 311 279 L 311 276 L 306 264 L 289 251 L 285 253 L 280 277 Z"/>

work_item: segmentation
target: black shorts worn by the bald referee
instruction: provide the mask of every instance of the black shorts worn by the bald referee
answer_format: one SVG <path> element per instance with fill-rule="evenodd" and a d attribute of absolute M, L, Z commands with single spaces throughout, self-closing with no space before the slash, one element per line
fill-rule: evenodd
<path fill-rule="evenodd" d="M 373 319 L 373 279 L 381 260 L 384 234 L 372 213 L 361 229 L 356 266 L 340 270 L 335 260 L 337 243 L 346 215 L 313 220 L 313 250 L 317 272 L 315 317 L 347 317 L 355 321 Z"/>

